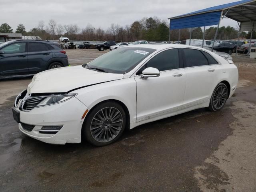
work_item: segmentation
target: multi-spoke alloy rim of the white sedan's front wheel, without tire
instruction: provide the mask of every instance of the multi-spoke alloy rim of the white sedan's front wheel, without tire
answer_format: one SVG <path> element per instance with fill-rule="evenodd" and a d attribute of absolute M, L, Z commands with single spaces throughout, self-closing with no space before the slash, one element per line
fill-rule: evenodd
<path fill-rule="evenodd" d="M 114 107 L 99 110 L 92 119 L 90 132 L 98 142 L 109 142 L 118 134 L 123 125 L 121 112 Z"/>

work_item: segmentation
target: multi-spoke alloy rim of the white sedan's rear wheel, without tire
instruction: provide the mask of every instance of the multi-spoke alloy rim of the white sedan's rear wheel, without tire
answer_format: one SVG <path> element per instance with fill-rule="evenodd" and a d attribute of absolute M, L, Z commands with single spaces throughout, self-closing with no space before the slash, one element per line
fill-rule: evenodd
<path fill-rule="evenodd" d="M 219 86 L 215 90 L 214 96 L 212 99 L 214 108 L 216 108 L 217 110 L 221 109 L 224 106 L 224 104 L 226 103 L 227 97 L 228 97 L 227 88 L 223 85 Z"/>

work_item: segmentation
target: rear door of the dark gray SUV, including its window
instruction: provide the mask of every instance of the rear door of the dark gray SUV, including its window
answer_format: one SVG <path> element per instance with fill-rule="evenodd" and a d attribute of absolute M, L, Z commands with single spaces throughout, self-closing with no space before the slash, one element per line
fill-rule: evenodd
<path fill-rule="evenodd" d="M 52 58 L 52 51 L 46 43 L 28 42 L 28 69 L 36 74 L 48 69 L 48 61 Z"/>

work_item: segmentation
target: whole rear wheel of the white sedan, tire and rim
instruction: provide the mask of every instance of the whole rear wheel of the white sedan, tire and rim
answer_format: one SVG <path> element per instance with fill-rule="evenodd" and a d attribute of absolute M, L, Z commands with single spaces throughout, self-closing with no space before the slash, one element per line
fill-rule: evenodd
<path fill-rule="evenodd" d="M 208 109 L 211 111 L 218 111 L 224 107 L 227 100 L 228 88 L 224 83 L 219 83 L 212 93 Z"/>

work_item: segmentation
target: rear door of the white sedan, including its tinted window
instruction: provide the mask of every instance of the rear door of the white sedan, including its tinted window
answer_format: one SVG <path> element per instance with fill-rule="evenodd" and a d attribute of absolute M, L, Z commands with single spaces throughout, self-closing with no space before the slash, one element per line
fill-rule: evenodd
<path fill-rule="evenodd" d="M 186 90 L 183 108 L 208 102 L 216 86 L 218 62 L 207 52 L 183 48 Z"/>

